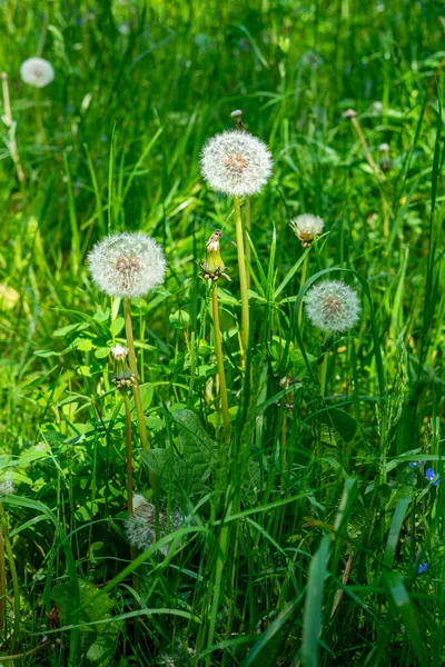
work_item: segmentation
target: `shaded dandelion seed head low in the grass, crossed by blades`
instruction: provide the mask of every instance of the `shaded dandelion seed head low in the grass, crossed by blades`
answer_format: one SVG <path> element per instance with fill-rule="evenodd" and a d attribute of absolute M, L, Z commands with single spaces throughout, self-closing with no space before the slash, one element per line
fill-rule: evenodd
<path fill-rule="evenodd" d="M 148 502 L 140 494 L 132 500 L 134 511 L 126 521 L 126 532 L 128 541 L 138 549 L 148 549 L 156 540 L 156 508 L 152 502 Z M 169 532 L 178 530 L 184 522 L 184 516 L 180 510 L 172 510 L 167 514 L 159 509 L 159 538 Z M 166 556 L 169 545 L 159 548 Z"/>

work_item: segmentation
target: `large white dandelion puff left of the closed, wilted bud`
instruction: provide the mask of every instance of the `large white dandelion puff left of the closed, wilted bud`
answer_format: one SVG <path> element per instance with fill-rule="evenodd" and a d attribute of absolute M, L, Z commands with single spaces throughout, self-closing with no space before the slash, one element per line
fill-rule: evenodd
<path fill-rule="evenodd" d="M 162 248 L 141 231 L 112 233 L 88 256 L 92 279 L 110 297 L 141 297 L 166 273 Z"/>

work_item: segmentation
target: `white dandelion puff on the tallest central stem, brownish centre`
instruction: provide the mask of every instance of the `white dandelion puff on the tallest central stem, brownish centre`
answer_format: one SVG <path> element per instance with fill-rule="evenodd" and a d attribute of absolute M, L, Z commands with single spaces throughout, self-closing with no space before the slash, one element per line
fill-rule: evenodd
<path fill-rule="evenodd" d="M 228 130 L 207 141 L 201 173 L 226 195 L 255 195 L 267 183 L 273 159 L 266 143 L 244 130 Z"/>

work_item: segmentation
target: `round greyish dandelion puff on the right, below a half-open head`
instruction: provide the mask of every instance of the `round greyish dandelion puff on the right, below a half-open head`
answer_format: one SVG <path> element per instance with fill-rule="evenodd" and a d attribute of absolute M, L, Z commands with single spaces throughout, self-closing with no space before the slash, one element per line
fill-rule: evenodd
<path fill-rule="evenodd" d="M 347 331 L 359 311 L 356 292 L 342 280 L 322 280 L 307 293 L 307 316 L 322 331 Z"/>

